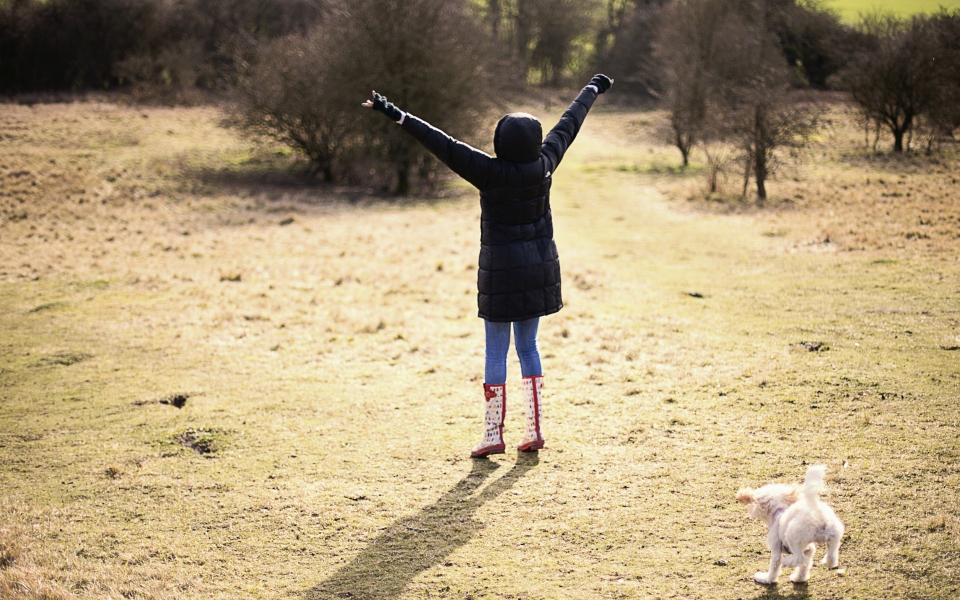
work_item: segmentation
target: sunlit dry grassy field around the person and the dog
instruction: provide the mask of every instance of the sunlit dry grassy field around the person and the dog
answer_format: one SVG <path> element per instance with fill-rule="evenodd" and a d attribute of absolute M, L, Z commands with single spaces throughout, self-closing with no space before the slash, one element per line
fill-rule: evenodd
<path fill-rule="evenodd" d="M 547 449 L 471 461 L 473 192 L 308 185 L 212 108 L 0 107 L 0 596 L 957 597 L 960 160 L 834 117 L 757 210 L 594 110 Z M 760 587 L 734 495 L 812 463 L 846 572 Z"/>

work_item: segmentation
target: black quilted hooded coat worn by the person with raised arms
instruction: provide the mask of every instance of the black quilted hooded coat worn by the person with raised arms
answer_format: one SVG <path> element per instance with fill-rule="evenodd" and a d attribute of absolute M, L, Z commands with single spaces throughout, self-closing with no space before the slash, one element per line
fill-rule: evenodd
<path fill-rule="evenodd" d="M 541 140 L 540 121 L 516 112 L 493 134 L 496 157 L 458 141 L 412 114 L 400 125 L 480 190 L 479 316 L 525 321 L 564 307 L 553 241 L 550 182 L 597 94 L 585 88 Z"/>

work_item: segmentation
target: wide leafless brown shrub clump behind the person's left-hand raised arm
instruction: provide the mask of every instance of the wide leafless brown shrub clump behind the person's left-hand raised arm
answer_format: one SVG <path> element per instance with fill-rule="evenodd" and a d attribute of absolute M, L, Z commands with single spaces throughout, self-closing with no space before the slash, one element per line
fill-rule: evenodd
<path fill-rule="evenodd" d="M 485 37 L 461 0 L 356 0 L 305 36 L 263 44 L 228 122 L 309 157 L 324 180 L 386 166 L 396 193 L 437 163 L 382 115 L 372 89 L 454 135 L 475 132 L 492 100 Z"/>

